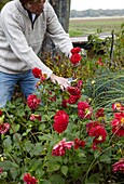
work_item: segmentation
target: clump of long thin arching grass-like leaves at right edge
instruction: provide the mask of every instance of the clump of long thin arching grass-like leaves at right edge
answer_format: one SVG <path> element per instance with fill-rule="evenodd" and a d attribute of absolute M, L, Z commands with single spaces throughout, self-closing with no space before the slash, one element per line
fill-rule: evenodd
<path fill-rule="evenodd" d="M 124 103 L 124 71 L 108 70 L 108 73 L 89 79 L 85 87 L 85 93 L 91 96 L 94 103 L 99 107 L 106 106 L 106 108 L 115 102 Z"/>

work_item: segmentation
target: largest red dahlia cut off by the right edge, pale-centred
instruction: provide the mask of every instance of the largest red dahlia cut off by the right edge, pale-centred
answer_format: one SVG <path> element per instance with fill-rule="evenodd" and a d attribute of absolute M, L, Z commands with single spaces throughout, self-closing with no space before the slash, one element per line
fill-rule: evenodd
<path fill-rule="evenodd" d="M 124 113 L 115 113 L 111 121 L 112 132 L 118 136 L 124 136 Z"/>

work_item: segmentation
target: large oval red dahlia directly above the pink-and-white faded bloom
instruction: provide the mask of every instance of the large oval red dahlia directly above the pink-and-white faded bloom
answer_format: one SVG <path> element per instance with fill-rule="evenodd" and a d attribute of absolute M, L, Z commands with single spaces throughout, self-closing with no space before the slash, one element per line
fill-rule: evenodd
<path fill-rule="evenodd" d="M 54 130 L 58 133 L 64 132 L 67 129 L 69 122 L 69 116 L 64 110 L 58 110 L 54 116 Z"/>

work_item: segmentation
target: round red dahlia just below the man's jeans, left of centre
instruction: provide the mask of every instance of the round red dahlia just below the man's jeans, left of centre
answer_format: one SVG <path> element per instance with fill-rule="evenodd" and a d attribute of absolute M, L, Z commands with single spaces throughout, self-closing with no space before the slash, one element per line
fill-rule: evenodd
<path fill-rule="evenodd" d="M 29 108 L 36 109 L 41 103 L 41 100 L 37 97 L 35 94 L 30 94 L 27 98 L 27 104 Z"/>

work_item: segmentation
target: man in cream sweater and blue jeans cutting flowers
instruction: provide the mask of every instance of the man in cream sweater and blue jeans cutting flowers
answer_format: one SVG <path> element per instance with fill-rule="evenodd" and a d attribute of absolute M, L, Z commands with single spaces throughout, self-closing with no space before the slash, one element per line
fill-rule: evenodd
<path fill-rule="evenodd" d="M 0 14 L 0 107 L 11 101 L 16 83 L 27 97 L 35 92 L 38 81 L 31 69 L 38 67 L 47 79 L 66 89 L 69 83 L 58 77 L 37 56 L 44 35 L 63 53 L 70 54 L 72 43 L 65 32 L 52 5 L 45 0 L 13 0 Z"/>

